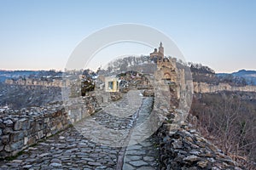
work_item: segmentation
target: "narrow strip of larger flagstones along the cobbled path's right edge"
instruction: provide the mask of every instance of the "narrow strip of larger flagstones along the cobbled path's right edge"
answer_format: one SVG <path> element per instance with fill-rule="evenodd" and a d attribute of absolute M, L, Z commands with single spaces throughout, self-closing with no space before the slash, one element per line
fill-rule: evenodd
<path fill-rule="evenodd" d="M 138 111 L 134 128 L 141 126 L 148 118 L 152 108 L 153 98 L 144 99 L 141 109 Z M 143 129 L 147 131 L 148 129 Z M 147 135 L 147 133 L 141 133 Z M 127 170 L 152 170 L 157 169 L 159 157 L 159 148 L 154 138 L 145 139 L 140 142 L 134 142 L 137 139 L 137 131 L 131 131 L 131 137 L 128 147 L 125 150 L 123 169 Z M 141 137 L 143 138 L 143 137 Z M 136 143 L 136 144 L 134 144 Z"/>

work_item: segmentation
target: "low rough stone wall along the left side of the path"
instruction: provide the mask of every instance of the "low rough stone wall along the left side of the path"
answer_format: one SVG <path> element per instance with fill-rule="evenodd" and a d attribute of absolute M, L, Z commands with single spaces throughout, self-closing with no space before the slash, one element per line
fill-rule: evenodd
<path fill-rule="evenodd" d="M 96 111 L 95 99 L 70 99 L 68 104 L 43 105 L 0 112 L 0 158 L 15 156 L 27 146 L 36 144 L 79 122 Z"/>

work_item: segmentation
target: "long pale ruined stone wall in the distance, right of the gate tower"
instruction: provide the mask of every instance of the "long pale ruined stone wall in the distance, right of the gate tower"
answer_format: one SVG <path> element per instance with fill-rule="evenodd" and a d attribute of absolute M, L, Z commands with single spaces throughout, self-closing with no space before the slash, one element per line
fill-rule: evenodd
<path fill-rule="evenodd" d="M 219 83 L 218 85 L 208 84 L 206 82 L 193 82 L 195 93 L 215 93 L 218 91 L 241 91 L 256 92 L 256 86 L 234 87 L 227 83 Z"/>

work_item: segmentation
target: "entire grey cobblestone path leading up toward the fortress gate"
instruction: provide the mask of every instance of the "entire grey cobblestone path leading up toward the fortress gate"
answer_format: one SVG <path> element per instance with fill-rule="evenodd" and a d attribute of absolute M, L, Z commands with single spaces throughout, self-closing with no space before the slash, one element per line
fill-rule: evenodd
<path fill-rule="evenodd" d="M 152 102 L 131 91 L 74 127 L 27 148 L 15 160 L 0 161 L 0 169 L 157 169 L 158 148 L 152 137 L 126 147 Z"/>

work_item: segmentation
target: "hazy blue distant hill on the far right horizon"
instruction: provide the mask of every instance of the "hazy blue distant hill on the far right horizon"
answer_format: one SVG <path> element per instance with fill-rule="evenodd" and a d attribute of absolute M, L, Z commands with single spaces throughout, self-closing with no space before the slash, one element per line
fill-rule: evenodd
<path fill-rule="evenodd" d="M 248 85 L 256 85 L 256 71 L 241 70 L 233 73 L 218 73 L 217 76 L 244 78 Z"/>

